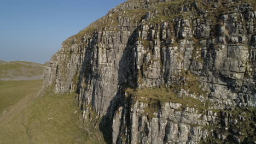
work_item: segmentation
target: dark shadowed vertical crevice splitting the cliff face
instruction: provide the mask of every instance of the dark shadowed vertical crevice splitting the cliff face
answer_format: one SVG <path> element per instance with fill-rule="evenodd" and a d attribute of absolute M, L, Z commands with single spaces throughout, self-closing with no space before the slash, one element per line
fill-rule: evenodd
<path fill-rule="evenodd" d="M 99 128 L 100 131 L 102 132 L 104 139 L 107 143 L 119 143 L 118 141 L 123 141 L 121 140 L 121 127 L 124 127 L 124 125 L 120 125 L 120 128 L 117 127 L 115 128 L 117 130 L 117 139 L 116 141 L 113 141 L 113 118 L 115 111 L 118 111 L 120 107 L 127 107 L 129 104 L 127 102 L 129 101 L 129 98 L 125 97 L 125 92 L 124 89 L 126 87 L 135 87 L 136 86 L 136 71 L 134 71 L 133 67 L 133 61 L 135 59 L 135 51 L 134 51 L 134 43 L 135 43 L 135 38 L 136 38 L 136 33 L 137 29 L 133 31 L 131 36 L 129 37 L 126 47 L 123 50 L 123 54 L 120 58 L 119 61 L 119 69 L 118 69 L 118 88 L 117 88 L 117 94 L 115 97 L 110 101 L 110 105 L 108 106 L 108 110 L 106 115 L 104 115 L 101 119 Z M 121 113 L 127 113 L 124 111 L 121 111 Z M 123 117 L 123 116 L 122 116 Z M 123 118 L 121 118 L 123 119 Z M 129 124 L 129 119 L 126 122 Z M 115 135 L 117 135 L 115 134 Z M 127 140 L 129 141 L 129 140 Z"/>

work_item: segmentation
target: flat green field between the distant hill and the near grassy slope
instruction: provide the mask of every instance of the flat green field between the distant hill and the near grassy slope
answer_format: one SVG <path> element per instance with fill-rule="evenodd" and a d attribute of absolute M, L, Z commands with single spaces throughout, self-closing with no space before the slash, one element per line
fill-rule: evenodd
<path fill-rule="evenodd" d="M 22 98 L 37 94 L 43 80 L 34 81 L 0 81 L 0 116 L 8 107 L 18 103 Z"/>

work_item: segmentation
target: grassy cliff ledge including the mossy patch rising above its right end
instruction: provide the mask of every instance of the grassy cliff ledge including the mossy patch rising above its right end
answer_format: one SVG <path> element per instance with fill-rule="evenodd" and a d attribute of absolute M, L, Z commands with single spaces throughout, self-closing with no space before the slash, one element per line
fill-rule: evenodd
<path fill-rule="evenodd" d="M 183 83 L 173 82 L 170 87 L 161 86 L 159 88 L 125 88 L 126 96 L 135 98 L 139 102 L 148 104 L 144 108 L 145 114 L 149 117 L 155 117 L 154 112 L 158 111 L 158 106 L 164 103 L 179 103 L 182 104 L 179 110 L 186 109 L 187 107 L 195 107 L 199 112 L 203 113 L 210 106 L 209 101 L 200 101 L 199 99 L 185 97 L 184 95 L 178 95 L 181 89 L 194 94 L 196 97 L 202 95 L 206 97 L 208 91 L 201 88 L 201 82 L 198 77 L 191 74 L 190 71 L 182 70 L 179 76 L 184 77 Z"/>

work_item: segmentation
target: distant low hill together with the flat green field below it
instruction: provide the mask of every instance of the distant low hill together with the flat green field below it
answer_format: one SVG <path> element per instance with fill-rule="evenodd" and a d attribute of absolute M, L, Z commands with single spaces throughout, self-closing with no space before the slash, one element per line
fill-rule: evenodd
<path fill-rule="evenodd" d="M 43 83 L 44 65 L 0 61 L 0 116 L 29 95 L 37 95 Z"/>

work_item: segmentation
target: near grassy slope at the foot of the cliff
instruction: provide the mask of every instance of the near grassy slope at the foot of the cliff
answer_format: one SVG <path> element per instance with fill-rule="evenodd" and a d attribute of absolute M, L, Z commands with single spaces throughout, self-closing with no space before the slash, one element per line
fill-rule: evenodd
<path fill-rule="evenodd" d="M 78 143 L 83 129 L 74 95 L 41 95 L 0 123 L 0 143 Z"/>

